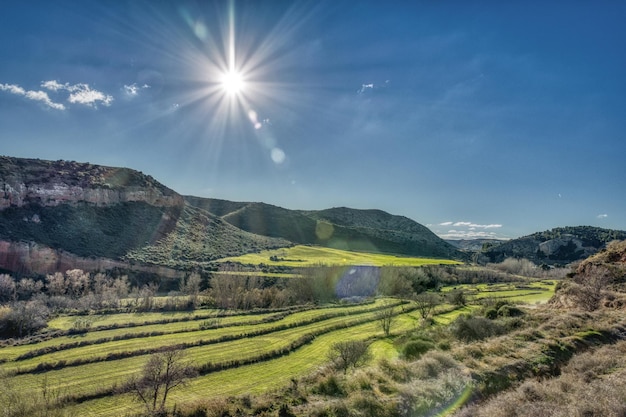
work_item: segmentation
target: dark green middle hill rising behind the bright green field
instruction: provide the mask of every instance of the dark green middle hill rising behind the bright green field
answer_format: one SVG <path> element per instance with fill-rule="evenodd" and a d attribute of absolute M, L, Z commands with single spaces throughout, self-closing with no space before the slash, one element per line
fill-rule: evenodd
<path fill-rule="evenodd" d="M 332 208 L 288 210 L 264 203 L 234 203 L 185 197 L 192 205 L 242 230 L 258 235 L 336 249 L 440 258 L 462 258 L 454 247 L 426 227 L 381 210 Z"/>

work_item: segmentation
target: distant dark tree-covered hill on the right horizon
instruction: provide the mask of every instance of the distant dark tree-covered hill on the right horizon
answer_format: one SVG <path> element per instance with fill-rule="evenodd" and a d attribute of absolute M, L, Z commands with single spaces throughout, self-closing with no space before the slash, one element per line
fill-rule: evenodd
<path fill-rule="evenodd" d="M 622 230 L 592 226 L 557 227 L 509 240 L 483 252 L 490 262 L 505 258 L 526 258 L 535 263 L 566 264 L 585 259 L 608 242 L 626 239 Z"/>

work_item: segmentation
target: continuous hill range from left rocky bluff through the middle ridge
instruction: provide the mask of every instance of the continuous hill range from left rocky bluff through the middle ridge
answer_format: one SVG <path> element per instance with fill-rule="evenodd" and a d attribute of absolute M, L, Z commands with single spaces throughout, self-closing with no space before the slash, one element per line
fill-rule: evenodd
<path fill-rule="evenodd" d="M 23 274 L 80 267 L 175 276 L 293 244 L 462 258 L 406 217 L 183 197 L 128 168 L 0 157 L 0 186 L 0 269 Z"/>

